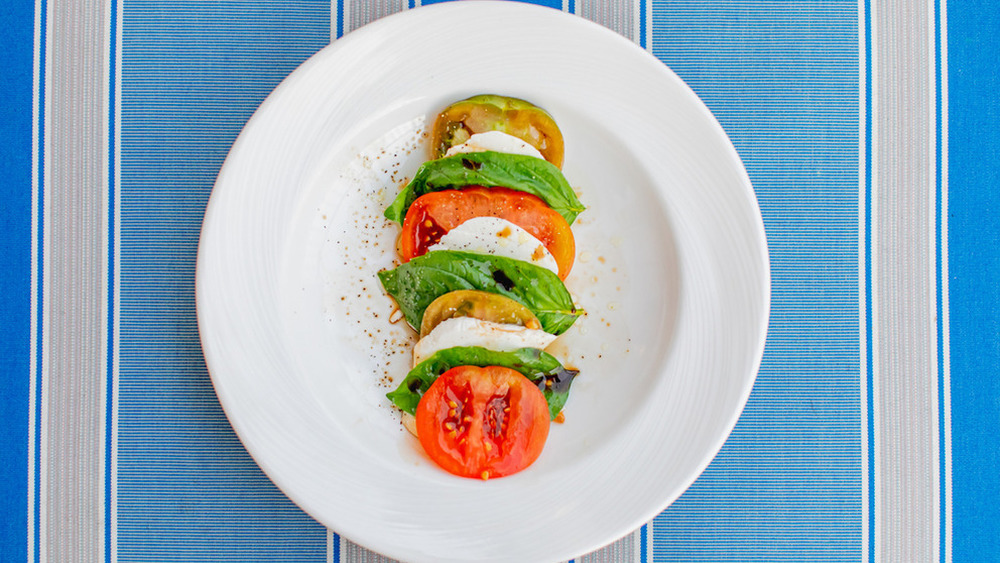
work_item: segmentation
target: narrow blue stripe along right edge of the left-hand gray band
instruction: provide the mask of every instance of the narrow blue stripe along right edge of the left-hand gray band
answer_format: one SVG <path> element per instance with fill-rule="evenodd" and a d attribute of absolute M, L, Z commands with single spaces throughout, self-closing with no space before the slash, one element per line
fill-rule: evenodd
<path fill-rule="evenodd" d="M 118 0 L 111 0 L 111 18 L 108 23 L 108 277 L 107 277 L 107 380 L 105 388 L 105 415 L 104 415 L 104 560 L 107 563 L 112 561 L 111 539 L 112 539 L 112 514 L 111 497 L 114 483 L 112 482 L 113 468 L 113 444 L 114 444 L 114 389 L 115 389 L 115 280 L 118 271 L 115 268 L 115 233 L 118 225 L 115 222 L 115 107 L 117 97 L 115 93 L 116 77 L 118 69 Z"/>

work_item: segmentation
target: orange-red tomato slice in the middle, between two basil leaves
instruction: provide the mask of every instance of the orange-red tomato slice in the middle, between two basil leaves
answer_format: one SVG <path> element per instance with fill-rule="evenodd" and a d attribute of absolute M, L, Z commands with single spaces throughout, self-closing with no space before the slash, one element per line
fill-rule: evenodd
<path fill-rule="evenodd" d="M 400 258 L 406 262 L 423 255 L 445 233 L 473 217 L 499 217 L 528 231 L 556 259 L 559 278 L 569 275 L 576 256 L 569 223 L 541 198 L 508 188 L 473 186 L 418 197 L 403 219 Z"/>

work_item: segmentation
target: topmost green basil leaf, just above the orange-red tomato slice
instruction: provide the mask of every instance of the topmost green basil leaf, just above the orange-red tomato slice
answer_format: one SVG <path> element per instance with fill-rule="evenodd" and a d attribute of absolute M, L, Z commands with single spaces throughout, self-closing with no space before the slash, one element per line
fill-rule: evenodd
<path fill-rule="evenodd" d="M 425 162 L 385 210 L 385 217 L 402 225 L 406 210 L 418 197 L 467 186 L 498 186 L 536 195 L 570 225 L 586 209 L 566 177 L 547 160 L 485 151 Z"/>

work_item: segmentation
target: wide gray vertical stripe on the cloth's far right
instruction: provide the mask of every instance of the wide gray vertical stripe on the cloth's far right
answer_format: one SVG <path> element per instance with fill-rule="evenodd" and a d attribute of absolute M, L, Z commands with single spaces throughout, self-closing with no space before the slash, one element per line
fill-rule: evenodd
<path fill-rule="evenodd" d="M 873 4 L 876 554 L 937 557 L 933 6 Z"/>

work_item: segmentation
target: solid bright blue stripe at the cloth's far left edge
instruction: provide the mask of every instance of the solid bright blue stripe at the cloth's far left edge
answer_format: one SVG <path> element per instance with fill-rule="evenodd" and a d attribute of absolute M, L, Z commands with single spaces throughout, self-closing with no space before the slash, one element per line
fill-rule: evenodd
<path fill-rule="evenodd" d="M 34 3 L 0 6 L 0 561 L 23 561 L 28 552 L 28 430 L 32 420 L 31 343 L 31 106 Z"/>

